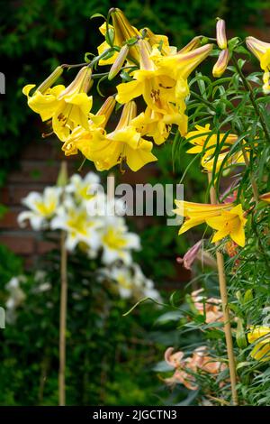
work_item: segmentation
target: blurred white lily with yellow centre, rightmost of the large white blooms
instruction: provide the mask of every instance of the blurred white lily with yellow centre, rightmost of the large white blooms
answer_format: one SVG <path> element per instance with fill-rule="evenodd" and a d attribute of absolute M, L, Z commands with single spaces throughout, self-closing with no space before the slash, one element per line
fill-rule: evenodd
<path fill-rule="evenodd" d="M 139 235 L 129 233 L 122 217 L 106 217 L 101 243 L 103 247 L 102 262 L 105 264 L 117 260 L 130 264 L 132 262 L 130 251 L 140 248 Z"/>

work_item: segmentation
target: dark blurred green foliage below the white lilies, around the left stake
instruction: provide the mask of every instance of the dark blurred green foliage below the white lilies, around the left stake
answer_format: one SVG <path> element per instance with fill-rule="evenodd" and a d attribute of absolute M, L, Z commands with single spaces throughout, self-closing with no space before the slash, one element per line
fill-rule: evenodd
<path fill-rule="evenodd" d="M 22 273 L 22 264 L 4 248 L 0 258 L 6 264 L 0 268 L 4 306 L 6 283 Z M 158 380 L 152 367 L 170 343 L 159 342 L 153 327 L 160 309 L 148 302 L 122 317 L 132 300 L 122 300 L 110 281 L 98 280 L 99 266 L 82 254 L 69 257 L 67 404 L 155 405 Z M 25 300 L 14 310 L 14 321 L 0 331 L 0 405 L 58 404 L 57 251 L 40 263 L 44 269 L 44 276 L 31 273 L 20 283 Z"/>

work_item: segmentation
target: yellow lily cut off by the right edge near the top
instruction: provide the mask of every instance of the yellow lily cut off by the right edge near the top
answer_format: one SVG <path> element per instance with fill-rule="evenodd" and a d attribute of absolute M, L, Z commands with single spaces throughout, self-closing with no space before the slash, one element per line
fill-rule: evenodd
<path fill-rule="evenodd" d="M 270 93 L 270 43 L 257 40 L 255 37 L 246 38 L 247 49 L 260 61 L 261 69 L 265 71 L 263 81 L 264 93 Z"/>

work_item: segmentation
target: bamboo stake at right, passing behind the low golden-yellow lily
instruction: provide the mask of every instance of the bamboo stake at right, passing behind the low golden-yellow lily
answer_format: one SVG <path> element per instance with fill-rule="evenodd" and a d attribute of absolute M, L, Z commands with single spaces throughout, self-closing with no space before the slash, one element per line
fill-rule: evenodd
<path fill-rule="evenodd" d="M 212 175 L 211 172 L 208 173 L 208 181 L 211 183 Z M 211 204 L 217 204 L 217 195 L 216 190 L 213 186 L 210 189 L 210 199 Z M 219 243 L 216 243 L 218 246 Z M 224 317 L 224 332 L 227 346 L 227 355 L 229 360 L 229 379 L 231 386 L 231 395 L 232 395 L 232 403 L 233 405 L 238 405 L 238 392 L 237 392 L 237 373 L 236 373 L 236 364 L 235 357 L 233 353 L 233 343 L 231 336 L 231 327 L 230 327 L 230 318 L 229 318 L 229 307 L 228 307 L 228 292 L 227 292 L 227 284 L 225 277 L 225 269 L 224 269 L 224 258 L 223 254 L 218 250 L 216 253 L 217 256 L 217 264 L 218 264 L 218 273 L 219 273 L 219 283 L 220 283 L 220 299 L 222 302 L 222 311 Z"/>

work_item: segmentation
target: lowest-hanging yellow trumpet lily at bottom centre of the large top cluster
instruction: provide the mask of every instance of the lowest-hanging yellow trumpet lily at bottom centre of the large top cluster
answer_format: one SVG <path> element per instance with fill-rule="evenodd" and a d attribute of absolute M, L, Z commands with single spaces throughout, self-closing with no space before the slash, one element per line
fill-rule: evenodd
<path fill-rule="evenodd" d="M 126 162 L 132 171 L 138 171 L 151 161 L 157 161 L 151 153 L 153 144 L 141 137 L 131 125 L 136 116 L 136 105 L 130 102 L 123 107 L 119 124 L 110 134 L 95 134 L 85 157 L 94 161 L 98 171 L 110 170 L 114 165 Z"/>

